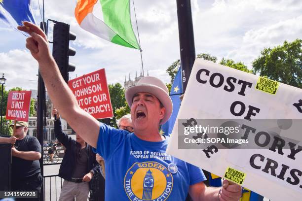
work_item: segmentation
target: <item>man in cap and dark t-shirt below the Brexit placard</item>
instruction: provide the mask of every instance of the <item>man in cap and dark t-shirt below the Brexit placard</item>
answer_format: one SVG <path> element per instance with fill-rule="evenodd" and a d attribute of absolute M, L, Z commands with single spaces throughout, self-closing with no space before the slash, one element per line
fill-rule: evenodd
<path fill-rule="evenodd" d="M 17 140 L 11 148 L 11 186 L 14 191 L 37 191 L 39 197 L 43 181 L 38 161 L 41 145 L 36 137 L 27 135 L 27 132 L 27 122 L 17 121 L 13 134 Z M 30 200 L 38 201 L 38 198 Z"/>

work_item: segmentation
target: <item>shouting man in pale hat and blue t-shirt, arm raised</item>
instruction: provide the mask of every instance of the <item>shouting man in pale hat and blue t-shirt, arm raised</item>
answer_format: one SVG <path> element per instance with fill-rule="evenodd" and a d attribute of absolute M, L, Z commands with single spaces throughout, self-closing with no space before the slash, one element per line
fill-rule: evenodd
<path fill-rule="evenodd" d="M 165 153 L 169 141 L 158 133 L 172 113 L 165 84 L 144 77 L 126 89 L 134 133 L 98 122 L 77 104 L 52 58 L 46 35 L 29 22 L 18 27 L 27 32 L 26 47 L 38 61 L 50 99 L 76 133 L 96 148 L 106 161 L 106 200 L 238 201 L 241 188 L 224 181 L 222 188 L 203 183 L 202 170 Z"/>

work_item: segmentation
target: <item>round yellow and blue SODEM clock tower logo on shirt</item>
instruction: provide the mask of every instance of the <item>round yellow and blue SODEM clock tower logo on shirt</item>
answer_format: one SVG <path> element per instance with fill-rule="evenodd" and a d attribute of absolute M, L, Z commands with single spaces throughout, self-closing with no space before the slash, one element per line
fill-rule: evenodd
<path fill-rule="evenodd" d="M 124 178 L 124 189 L 131 201 L 165 201 L 172 188 L 172 174 L 157 162 L 135 163 Z"/>

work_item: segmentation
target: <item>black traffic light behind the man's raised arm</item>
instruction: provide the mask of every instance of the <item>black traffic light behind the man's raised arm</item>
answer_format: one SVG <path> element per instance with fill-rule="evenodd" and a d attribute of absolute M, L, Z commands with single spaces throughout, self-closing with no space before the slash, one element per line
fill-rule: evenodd
<path fill-rule="evenodd" d="M 52 56 L 55 59 L 60 72 L 66 82 L 68 82 L 68 72 L 73 72 L 76 66 L 69 63 L 69 56 L 75 56 L 76 50 L 69 47 L 69 41 L 76 39 L 76 34 L 69 31 L 69 24 L 53 21 L 53 46 Z"/>

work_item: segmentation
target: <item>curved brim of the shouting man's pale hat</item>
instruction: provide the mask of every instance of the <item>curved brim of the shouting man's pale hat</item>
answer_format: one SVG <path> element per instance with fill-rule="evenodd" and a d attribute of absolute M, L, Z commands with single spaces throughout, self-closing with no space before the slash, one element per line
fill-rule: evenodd
<path fill-rule="evenodd" d="M 160 87 L 151 84 L 145 84 L 145 85 L 140 84 L 140 85 L 130 86 L 126 89 L 125 92 L 125 98 L 130 108 L 132 105 L 133 96 L 140 92 L 150 93 L 154 95 L 163 104 L 163 106 L 166 109 L 166 113 L 164 118 L 161 120 L 159 124 L 162 125 L 166 123 L 169 120 L 173 110 L 172 100 L 167 94 L 167 92 L 165 92 Z"/>

